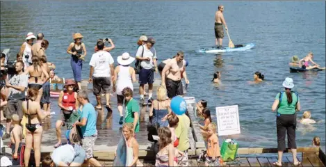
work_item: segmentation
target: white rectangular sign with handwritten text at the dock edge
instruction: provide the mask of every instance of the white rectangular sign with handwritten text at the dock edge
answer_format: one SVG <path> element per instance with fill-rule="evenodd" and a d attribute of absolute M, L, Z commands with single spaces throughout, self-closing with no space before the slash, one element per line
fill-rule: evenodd
<path fill-rule="evenodd" d="M 238 105 L 216 107 L 218 136 L 240 134 Z"/>

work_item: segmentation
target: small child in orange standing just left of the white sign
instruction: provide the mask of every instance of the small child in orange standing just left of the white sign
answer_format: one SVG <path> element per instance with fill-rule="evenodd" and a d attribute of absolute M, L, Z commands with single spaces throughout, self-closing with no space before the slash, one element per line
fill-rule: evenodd
<path fill-rule="evenodd" d="M 207 152 L 205 166 L 220 166 L 220 146 L 216 136 L 216 125 L 210 123 L 207 127 Z"/>

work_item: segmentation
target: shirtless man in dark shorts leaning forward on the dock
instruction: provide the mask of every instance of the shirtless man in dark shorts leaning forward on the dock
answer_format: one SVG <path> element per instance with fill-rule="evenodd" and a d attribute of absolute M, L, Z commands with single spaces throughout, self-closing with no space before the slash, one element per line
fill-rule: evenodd
<path fill-rule="evenodd" d="M 165 86 L 166 84 L 166 90 L 170 99 L 177 95 L 184 95 L 184 90 L 181 83 L 181 73 L 183 73 L 186 84 L 189 84 L 186 74 L 186 63 L 184 61 L 183 51 L 179 51 L 177 56 L 172 58 L 172 60 L 169 61 L 167 65 L 165 65 L 162 71 L 162 86 Z"/>

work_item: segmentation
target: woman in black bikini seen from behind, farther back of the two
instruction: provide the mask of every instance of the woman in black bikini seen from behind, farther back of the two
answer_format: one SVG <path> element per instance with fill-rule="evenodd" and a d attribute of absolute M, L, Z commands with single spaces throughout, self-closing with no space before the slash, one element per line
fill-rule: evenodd
<path fill-rule="evenodd" d="M 36 101 L 40 102 L 43 89 L 42 85 L 49 80 L 49 74 L 47 69 L 44 69 L 40 62 L 38 56 L 32 56 L 33 65 L 26 68 L 25 74 L 29 74 L 28 88 L 36 88 L 38 90 L 38 99 Z M 44 78 L 42 79 L 42 74 Z"/>

